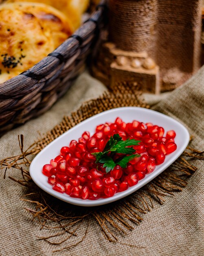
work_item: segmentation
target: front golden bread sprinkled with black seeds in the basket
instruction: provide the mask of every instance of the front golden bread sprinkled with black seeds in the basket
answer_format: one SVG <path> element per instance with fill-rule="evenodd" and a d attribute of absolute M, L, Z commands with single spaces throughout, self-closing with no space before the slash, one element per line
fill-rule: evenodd
<path fill-rule="evenodd" d="M 0 83 L 32 67 L 53 49 L 50 31 L 42 29 L 33 14 L 0 10 Z"/>

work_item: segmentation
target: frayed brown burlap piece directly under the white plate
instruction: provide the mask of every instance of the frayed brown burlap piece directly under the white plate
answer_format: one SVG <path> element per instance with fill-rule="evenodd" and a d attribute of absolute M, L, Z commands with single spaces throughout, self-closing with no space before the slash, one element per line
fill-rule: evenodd
<path fill-rule="evenodd" d="M 204 159 L 204 152 L 188 146 L 185 152 L 166 171 L 142 189 L 110 205 L 91 209 L 83 208 L 83 214 L 80 214 L 81 208 L 61 201 L 59 203 L 59 200 L 40 190 L 32 182 L 27 168 L 31 164 L 33 155 L 37 155 L 51 141 L 81 121 L 104 110 L 123 106 L 148 108 L 142 94 L 136 88 L 129 88 L 126 84 L 120 84 L 117 88 L 113 88 L 113 91 L 105 92 L 98 99 L 84 103 L 69 117 L 64 117 L 59 125 L 46 135 L 41 136 L 26 150 L 23 146 L 24 137 L 20 135 L 18 140 L 21 154 L 0 160 L 0 169 L 5 170 L 4 178 L 6 171 L 10 168 L 18 169 L 22 173 L 22 180 L 16 180 L 11 176 L 9 178 L 28 187 L 28 194 L 21 198 L 29 204 L 29 207 L 25 208 L 26 211 L 33 216 L 32 221 L 35 220 L 39 223 L 40 229 L 50 230 L 50 236 L 42 236 L 38 239 L 45 240 L 52 245 L 64 245 L 53 252 L 69 249 L 83 242 L 90 225 L 96 225 L 96 223 L 101 228 L 104 238 L 110 242 L 142 248 L 137 245 L 121 243 L 122 235 L 134 229 L 143 220 L 145 213 L 154 208 L 154 204 L 163 204 L 167 195 L 182 191 L 182 188 L 188 184 L 186 179 L 197 170 L 197 167 L 191 163 L 192 160 Z M 57 234 L 56 229 L 59 230 Z M 83 231 L 84 236 L 82 238 L 77 237 L 79 229 Z M 68 241 L 71 237 L 75 239 L 72 245 Z"/>

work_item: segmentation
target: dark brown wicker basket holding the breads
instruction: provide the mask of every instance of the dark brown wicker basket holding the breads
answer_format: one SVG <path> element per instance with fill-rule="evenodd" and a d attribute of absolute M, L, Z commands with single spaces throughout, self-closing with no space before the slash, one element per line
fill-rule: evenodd
<path fill-rule="evenodd" d="M 55 51 L 0 84 L 0 133 L 46 112 L 70 88 L 97 42 L 106 17 L 105 2 Z"/>

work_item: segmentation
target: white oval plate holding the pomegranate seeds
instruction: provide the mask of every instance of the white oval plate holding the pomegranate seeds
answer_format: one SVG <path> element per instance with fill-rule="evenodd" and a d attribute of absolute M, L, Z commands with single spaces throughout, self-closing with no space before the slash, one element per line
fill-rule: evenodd
<path fill-rule="evenodd" d="M 53 190 L 52 186 L 48 184 L 48 177 L 42 174 L 42 167 L 44 166 L 44 164 L 49 164 L 50 159 L 53 159 L 57 155 L 59 155 L 61 147 L 68 146 L 72 139 L 78 140 L 85 130 L 88 130 L 92 135 L 97 125 L 103 124 L 105 122 L 114 122 L 116 117 L 121 117 L 125 122 L 132 122 L 133 120 L 144 123 L 151 122 L 154 125 L 162 126 L 165 129 L 165 132 L 167 132 L 168 130 L 175 130 L 175 143 L 177 144 L 177 149 L 170 155 L 167 155 L 165 162 L 156 166 L 154 172 L 147 174 L 144 179 L 138 182 L 138 184 L 129 187 L 129 189 L 127 189 L 126 191 L 116 193 L 111 198 L 100 198 L 98 200 L 83 200 L 79 198 L 72 198 L 66 193 L 61 194 Z M 135 192 L 136 190 L 140 189 L 142 186 L 153 180 L 183 153 L 188 143 L 188 130 L 182 124 L 180 124 L 178 121 L 171 117 L 146 108 L 115 108 L 102 112 L 98 115 L 95 115 L 94 117 L 90 117 L 89 119 L 81 122 L 80 124 L 77 124 L 75 127 L 71 128 L 70 130 L 59 136 L 57 139 L 52 141 L 33 159 L 30 166 L 30 175 L 33 181 L 41 189 L 43 189 L 50 195 L 55 196 L 56 198 L 59 198 L 70 204 L 80 206 L 98 206 L 124 198 L 125 196 Z"/>

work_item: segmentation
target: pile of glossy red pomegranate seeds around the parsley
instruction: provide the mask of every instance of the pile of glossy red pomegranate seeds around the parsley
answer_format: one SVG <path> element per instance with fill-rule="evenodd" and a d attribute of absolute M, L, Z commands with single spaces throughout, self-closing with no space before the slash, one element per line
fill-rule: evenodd
<path fill-rule="evenodd" d="M 165 155 L 176 150 L 175 131 L 168 131 L 166 136 L 164 133 L 164 128 L 157 125 L 135 120 L 126 124 L 117 117 L 114 123 L 97 126 L 92 137 L 86 131 L 78 142 L 72 140 L 69 146 L 61 148 L 60 155 L 51 159 L 50 164 L 45 164 L 42 173 L 48 176 L 54 190 L 71 197 L 89 200 L 112 197 L 137 184 L 147 173 L 153 172 L 156 165 L 165 161 Z M 132 159 L 127 168 L 116 165 L 106 173 L 103 164 L 95 163 L 92 153 L 103 151 L 114 134 L 119 134 L 123 140 L 140 140 L 139 145 L 133 147 L 134 154 L 140 157 Z"/>

